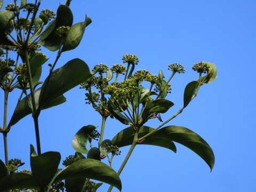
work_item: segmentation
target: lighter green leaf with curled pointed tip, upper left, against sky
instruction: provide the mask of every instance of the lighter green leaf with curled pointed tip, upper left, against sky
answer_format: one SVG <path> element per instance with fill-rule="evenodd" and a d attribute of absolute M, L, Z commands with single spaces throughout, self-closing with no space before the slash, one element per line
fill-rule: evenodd
<path fill-rule="evenodd" d="M 79 22 L 73 25 L 65 38 L 65 42 L 62 47 L 62 52 L 75 49 L 82 40 L 85 28 L 92 22 L 92 20 L 85 17 L 84 22 Z"/>

